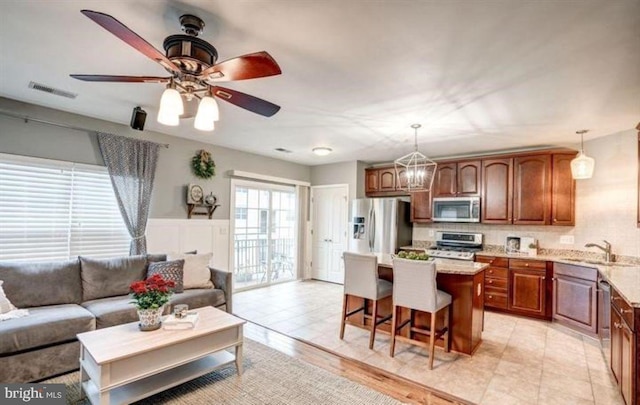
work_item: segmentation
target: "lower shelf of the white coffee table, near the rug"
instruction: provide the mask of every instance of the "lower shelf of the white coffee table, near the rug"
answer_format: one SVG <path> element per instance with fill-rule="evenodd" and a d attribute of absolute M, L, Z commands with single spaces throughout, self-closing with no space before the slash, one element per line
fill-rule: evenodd
<path fill-rule="evenodd" d="M 109 401 L 106 404 L 101 401 L 100 390 L 93 381 L 84 381 L 82 388 L 92 404 L 129 404 L 193 380 L 235 361 L 236 357 L 225 350 L 210 354 L 159 374 L 106 390 L 109 393 Z"/>

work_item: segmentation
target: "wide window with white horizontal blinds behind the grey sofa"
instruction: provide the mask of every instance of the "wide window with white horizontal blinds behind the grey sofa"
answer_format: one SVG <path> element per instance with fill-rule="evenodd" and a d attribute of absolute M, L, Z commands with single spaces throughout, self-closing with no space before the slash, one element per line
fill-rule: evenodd
<path fill-rule="evenodd" d="M 107 169 L 0 154 L 0 260 L 129 253 Z"/>

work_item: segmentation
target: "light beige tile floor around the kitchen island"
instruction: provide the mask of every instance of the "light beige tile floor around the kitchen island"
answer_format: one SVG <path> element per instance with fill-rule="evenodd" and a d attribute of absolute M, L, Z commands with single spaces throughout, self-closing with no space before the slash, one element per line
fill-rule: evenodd
<path fill-rule="evenodd" d="M 234 314 L 478 404 L 623 404 L 597 341 L 549 322 L 486 312 L 483 342 L 471 356 L 425 349 L 346 327 L 338 337 L 342 286 L 298 281 L 234 294 Z"/>

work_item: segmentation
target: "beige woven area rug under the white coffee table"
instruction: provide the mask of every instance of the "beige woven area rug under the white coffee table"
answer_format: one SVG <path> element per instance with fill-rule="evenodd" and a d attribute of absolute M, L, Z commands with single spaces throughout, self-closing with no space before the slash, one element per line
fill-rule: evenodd
<path fill-rule="evenodd" d="M 400 404 L 387 395 L 246 337 L 243 364 L 244 373 L 240 377 L 232 364 L 137 404 Z M 88 403 L 86 399 L 79 400 L 78 379 L 79 373 L 73 372 L 43 382 L 65 384 L 68 404 Z"/>

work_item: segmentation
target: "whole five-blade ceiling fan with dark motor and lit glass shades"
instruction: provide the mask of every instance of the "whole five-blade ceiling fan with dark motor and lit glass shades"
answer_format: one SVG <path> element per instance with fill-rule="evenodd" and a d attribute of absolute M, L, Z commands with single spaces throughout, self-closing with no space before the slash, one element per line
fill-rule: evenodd
<path fill-rule="evenodd" d="M 166 37 L 163 43 L 166 54 L 163 54 L 114 17 L 91 10 L 81 12 L 138 52 L 159 63 L 170 76 L 70 76 L 88 82 L 166 83 L 167 89 L 162 95 L 158 113 L 158 121 L 162 124 L 178 125 L 179 118 L 193 116 L 190 108 L 184 108 L 183 100 L 187 107 L 200 100 L 195 126 L 202 130 L 213 130 L 213 121 L 218 119 L 214 97 L 265 117 L 271 117 L 280 110 L 279 106 L 266 100 L 216 84 L 281 74 L 280 67 L 271 55 L 265 51 L 255 52 L 216 63 L 216 48 L 197 37 L 202 33 L 204 22 L 194 15 L 180 17 L 180 25 L 186 35 Z M 202 115 L 200 110 L 203 110 Z"/>

